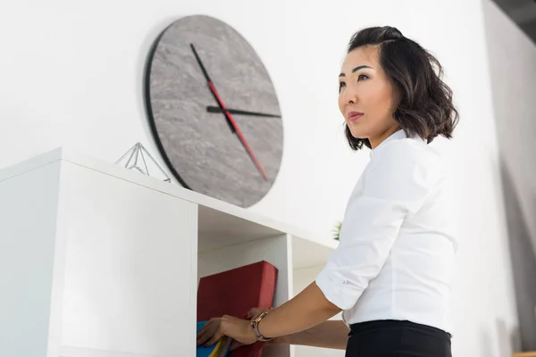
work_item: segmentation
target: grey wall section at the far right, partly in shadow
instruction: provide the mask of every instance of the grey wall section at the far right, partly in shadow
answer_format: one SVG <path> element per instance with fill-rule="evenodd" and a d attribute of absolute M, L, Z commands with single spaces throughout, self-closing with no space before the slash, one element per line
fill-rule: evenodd
<path fill-rule="evenodd" d="M 484 2 L 493 106 L 523 349 L 536 350 L 536 45 Z"/>

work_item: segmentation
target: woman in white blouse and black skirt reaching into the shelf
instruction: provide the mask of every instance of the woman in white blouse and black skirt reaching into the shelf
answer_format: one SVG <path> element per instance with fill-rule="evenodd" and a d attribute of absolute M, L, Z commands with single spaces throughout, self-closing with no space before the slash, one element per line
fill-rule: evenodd
<path fill-rule="evenodd" d="M 451 137 L 458 113 L 440 76 L 440 63 L 398 29 L 363 29 L 351 38 L 339 109 L 349 145 L 372 151 L 349 198 L 339 246 L 289 302 L 254 311 L 254 319 L 210 320 L 197 345 L 226 335 L 242 345 L 346 349 L 347 357 L 451 356 L 456 240 L 448 232 L 440 157 L 428 144 Z M 329 320 L 339 311 L 342 321 Z"/>

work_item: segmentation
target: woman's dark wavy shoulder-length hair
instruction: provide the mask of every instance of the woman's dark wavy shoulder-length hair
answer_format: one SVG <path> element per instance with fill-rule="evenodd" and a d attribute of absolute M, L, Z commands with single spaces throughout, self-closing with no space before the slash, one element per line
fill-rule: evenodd
<path fill-rule="evenodd" d="M 381 67 L 400 94 L 393 118 L 406 136 L 422 137 L 429 144 L 440 135 L 451 138 L 459 115 L 452 101 L 452 90 L 441 80 L 440 62 L 389 26 L 357 31 L 350 39 L 348 53 L 363 46 L 379 46 Z M 367 138 L 353 137 L 346 124 L 345 133 L 353 150 L 363 145 L 372 147 Z"/>

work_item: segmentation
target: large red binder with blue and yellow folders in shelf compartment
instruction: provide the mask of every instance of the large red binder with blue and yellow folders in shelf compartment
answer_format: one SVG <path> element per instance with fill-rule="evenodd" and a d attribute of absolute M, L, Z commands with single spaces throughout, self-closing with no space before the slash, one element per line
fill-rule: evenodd
<path fill-rule="evenodd" d="M 202 326 L 212 318 L 230 315 L 241 319 L 253 308 L 270 309 L 275 294 L 277 273 L 275 266 L 261 261 L 201 278 L 197 289 L 197 330 L 200 324 Z M 223 354 L 209 353 L 197 356 L 261 357 L 263 353 L 262 342 L 229 351 L 231 343 L 231 339 L 225 336 L 215 344 L 221 346 L 219 352 L 215 347 L 210 352 Z M 207 353 L 205 348 L 197 348 L 197 353 Z"/>

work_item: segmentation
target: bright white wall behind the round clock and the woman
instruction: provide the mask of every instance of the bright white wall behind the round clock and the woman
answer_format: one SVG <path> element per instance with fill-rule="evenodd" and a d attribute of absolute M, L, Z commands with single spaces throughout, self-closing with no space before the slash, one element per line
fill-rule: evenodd
<path fill-rule="evenodd" d="M 509 331 L 516 321 L 479 0 L 4 2 L 0 167 L 59 145 L 109 162 L 137 141 L 155 154 L 143 110 L 143 65 L 159 31 L 194 13 L 238 29 L 264 60 L 280 97 L 281 173 L 252 210 L 326 239 L 368 160 L 368 153 L 346 147 L 337 108 L 348 38 L 356 29 L 390 24 L 439 56 L 462 114 L 456 139 L 435 144 L 453 168 L 462 243 L 455 355 L 498 357 L 507 347 L 497 326 Z"/>

